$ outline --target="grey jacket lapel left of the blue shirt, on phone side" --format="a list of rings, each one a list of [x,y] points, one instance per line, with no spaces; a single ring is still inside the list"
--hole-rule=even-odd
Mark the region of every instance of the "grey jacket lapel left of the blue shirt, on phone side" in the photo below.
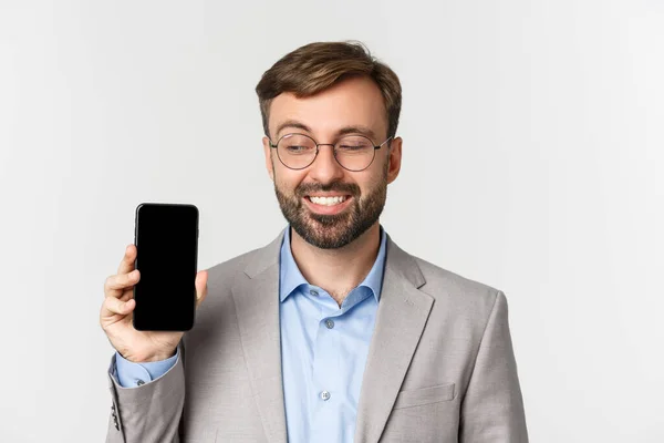
[[[256,253],[232,287],[242,351],[269,442],[286,443],[279,329],[279,250],[283,233]]]

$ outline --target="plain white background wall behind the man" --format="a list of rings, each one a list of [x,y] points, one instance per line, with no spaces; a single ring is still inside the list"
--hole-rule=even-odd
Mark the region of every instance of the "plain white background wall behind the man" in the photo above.
[[[227,3],[227,4],[222,4]],[[403,84],[396,243],[506,292],[533,442],[663,442],[664,2],[0,0],[0,441],[100,442],[142,202],[201,268],[284,226],[260,75],[357,39]]]

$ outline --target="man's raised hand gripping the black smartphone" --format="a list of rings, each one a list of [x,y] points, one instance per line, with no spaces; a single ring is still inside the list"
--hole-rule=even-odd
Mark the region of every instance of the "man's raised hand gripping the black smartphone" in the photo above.
[[[136,246],[128,245],[117,274],[106,278],[100,323],[113,348],[125,359],[133,362],[165,360],[175,354],[184,332],[134,329],[134,285],[141,279],[134,267],[136,254]],[[196,274],[196,308],[207,296],[207,270]]]

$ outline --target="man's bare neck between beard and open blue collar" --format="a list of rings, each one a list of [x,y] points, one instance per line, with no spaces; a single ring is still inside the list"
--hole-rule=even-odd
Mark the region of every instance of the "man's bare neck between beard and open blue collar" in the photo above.
[[[339,249],[317,248],[291,229],[291,253],[300,272],[309,284],[326,290],[340,307],[349,292],[367,276],[380,247],[378,222]]]

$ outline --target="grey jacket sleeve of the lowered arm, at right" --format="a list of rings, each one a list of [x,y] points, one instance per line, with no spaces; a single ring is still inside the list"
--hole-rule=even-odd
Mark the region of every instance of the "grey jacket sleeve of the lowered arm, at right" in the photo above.
[[[528,442],[507,299],[502,291],[496,296],[461,402],[459,442]]]

